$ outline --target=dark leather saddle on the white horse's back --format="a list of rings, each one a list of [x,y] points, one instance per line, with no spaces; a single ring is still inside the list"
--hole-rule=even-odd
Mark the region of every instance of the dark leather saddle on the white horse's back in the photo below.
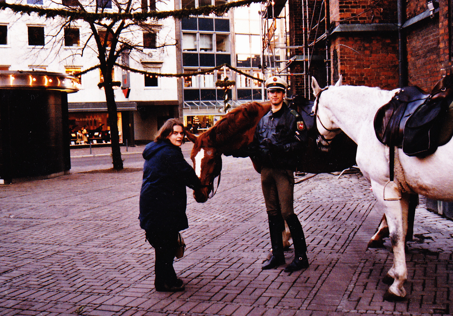
[[[402,88],[375,115],[376,137],[408,156],[424,157],[453,135],[453,75],[445,76],[431,94],[417,86]]]

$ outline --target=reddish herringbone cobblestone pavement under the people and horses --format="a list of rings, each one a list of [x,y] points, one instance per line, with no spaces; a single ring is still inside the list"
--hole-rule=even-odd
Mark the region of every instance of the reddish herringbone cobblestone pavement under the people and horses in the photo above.
[[[189,146],[188,144],[184,146]],[[140,230],[140,168],[0,187],[0,315],[442,315],[453,312],[453,222],[420,208],[408,243],[407,299],[384,301],[386,248],[366,249],[381,209],[359,174],[296,185],[310,267],[262,271],[270,250],[259,175],[224,157],[214,198],[188,191],[188,244],[174,266],[185,292],[154,290]],[[292,260],[293,248],[286,253]]]

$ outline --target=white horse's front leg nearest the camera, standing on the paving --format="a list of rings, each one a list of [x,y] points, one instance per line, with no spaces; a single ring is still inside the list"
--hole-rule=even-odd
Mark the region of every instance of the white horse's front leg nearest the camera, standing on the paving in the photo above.
[[[386,219],[389,227],[390,241],[393,248],[393,265],[387,272],[388,277],[394,279],[389,287],[388,293],[392,297],[405,297],[406,290],[404,282],[407,280],[407,267],[405,255],[405,236],[407,231],[407,211],[409,208],[409,194],[401,194],[401,199],[396,201],[385,201],[383,186],[372,184],[376,197],[386,207]],[[396,196],[395,192],[395,196]]]

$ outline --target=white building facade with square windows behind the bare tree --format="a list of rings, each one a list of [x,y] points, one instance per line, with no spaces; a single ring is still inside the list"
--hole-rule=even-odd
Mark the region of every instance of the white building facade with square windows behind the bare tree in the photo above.
[[[106,12],[118,12],[110,0],[96,1],[98,5],[105,6]],[[136,11],[144,10],[144,6],[145,10],[174,10],[172,0],[147,1],[151,3],[136,1]],[[75,5],[72,0],[63,0],[62,4],[50,0],[14,1],[16,4],[19,2],[57,9]],[[93,5],[93,1],[81,3]],[[102,34],[101,26],[98,32]],[[117,63],[153,73],[177,72],[174,19],[132,25],[122,32],[121,40],[133,43],[135,49],[122,54]],[[0,56],[0,71],[78,73],[99,64],[96,43],[86,22],[77,20],[63,24],[63,20],[58,18],[18,15],[8,9],[0,10]],[[180,117],[176,78],[147,76],[120,67],[115,67],[113,76],[115,81],[121,83],[115,88],[120,142],[127,140],[132,145],[136,141],[153,140],[166,119]],[[68,95],[68,132],[74,145],[77,137],[73,135],[84,127],[90,132],[92,143],[109,142],[106,97],[103,88],[98,87],[102,81],[101,72],[96,68],[82,74],[79,92]]]

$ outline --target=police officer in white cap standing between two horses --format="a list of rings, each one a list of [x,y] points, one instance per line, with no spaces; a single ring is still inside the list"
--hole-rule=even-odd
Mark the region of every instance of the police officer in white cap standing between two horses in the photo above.
[[[272,108],[258,123],[252,143],[261,162],[261,187],[272,244],[272,256],[261,268],[273,269],[285,263],[282,232],[286,220],[293,238],[294,260],[284,271],[293,272],[309,265],[304,231],[293,206],[297,155],[307,136],[299,114],[283,102],[288,84],[273,76],[266,80],[265,88]]]

